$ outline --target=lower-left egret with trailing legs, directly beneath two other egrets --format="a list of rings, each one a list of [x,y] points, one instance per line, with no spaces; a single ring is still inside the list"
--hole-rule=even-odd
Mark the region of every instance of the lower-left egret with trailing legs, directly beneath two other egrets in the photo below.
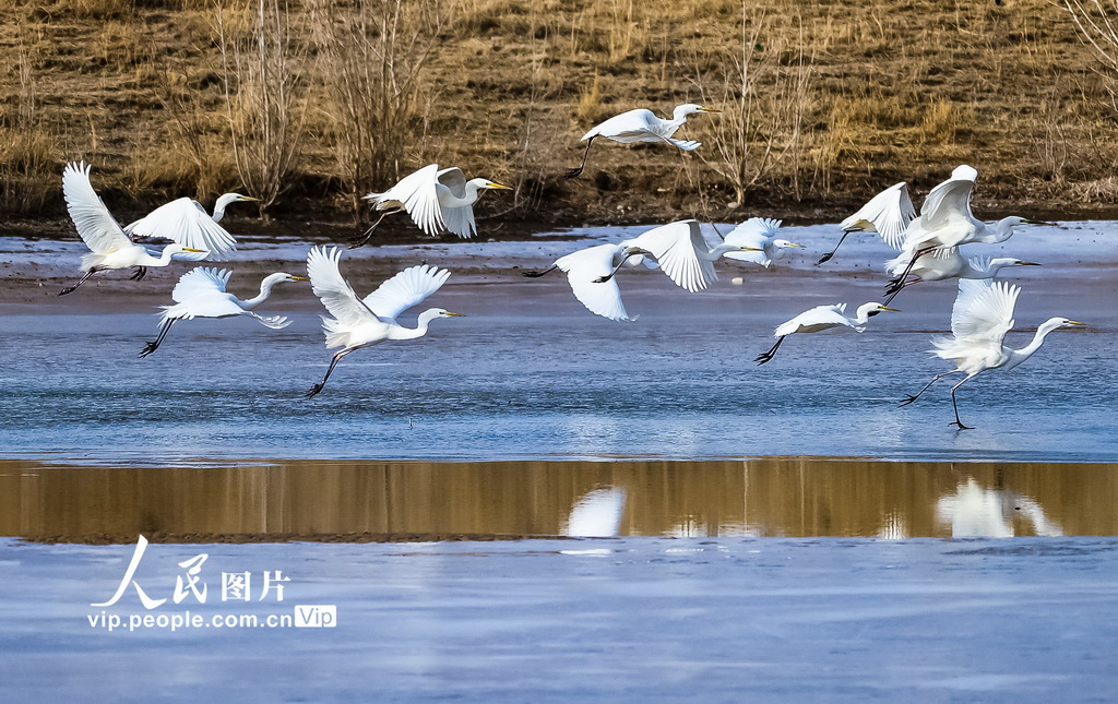
[[[305,282],[303,276],[292,276],[277,272],[264,277],[260,282],[260,293],[256,296],[241,301],[237,296],[227,293],[226,286],[229,284],[229,269],[211,269],[198,267],[190,269],[179,278],[179,283],[171,291],[171,301],[176,305],[163,305],[163,313],[159,318],[159,336],[149,342],[140,352],[144,358],[159,349],[163,343],[163,337],[170,332],[171,325],[176,321],[193,320],[196,317],[231,317],[234,315],[248,315],[265,327],[272,330],[283,330],[291,324],[283,315],[257,315],[253,308],[267,301],[272,295],[272,288],[276,284],[285,282]]]

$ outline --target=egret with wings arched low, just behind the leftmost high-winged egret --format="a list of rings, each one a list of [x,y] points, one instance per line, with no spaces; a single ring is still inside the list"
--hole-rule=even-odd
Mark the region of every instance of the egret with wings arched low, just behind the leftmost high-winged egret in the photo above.
[[[180,198],[155,208],[146,217],[125,226],[124,234],[133,239],[143,237],[169,239],[187,247],[207,250],[209,253],[207,259],[224,261],[236,251],[237,240],[218,222],[225,217],[225,209],[229,203],[248,201],[259,201],[259,198],[225,193],[217,199],[211,216],[197,200]]]

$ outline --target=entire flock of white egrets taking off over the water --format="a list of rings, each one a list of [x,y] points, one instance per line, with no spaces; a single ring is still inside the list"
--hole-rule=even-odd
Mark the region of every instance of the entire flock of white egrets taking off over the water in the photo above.
[[[656,117],[647,110],[634,110],[610,117],[582,136],[587,142],[581,164],[565,177],[578,177],[586,165],[590,146],[597,137],[622,143],[661,142],[680,150],[691,151],[699,142],[674,139],[688,115],[718,112],[701,105],[680,105],[671,120]],[[756,358],[764,364],[773,359],[788,335],[814,333],[832,327],[846,326],[858,332],[865,329],[869,318],[882,311],[894,311],[889,303],[903,288],[920,282],[957,278],[958,295],[951,310],[951,334],[932,341],[931,351],[950,361],[955,369],[936,375],[918,393],[908,396],[901,405],[916,401],[937,380],[950,374],[966,374],[951,387],[955,409],[953,425],[968,429],[959,419],[955,391],[967,380],[988,369],[1012,369],[1022,363],[1041,346],[1053,330],[1067,325],[1082,325],[1065,317],[1052,317],[1042,323],[1032,343],[1021,350],[1004,344],[1005,334],[1013,327],[1013,310],[1020,287],[993,279],[1007,266],[1029,266],[1030,261],[1014,258],[965,258],[959,246],[970,242],[1001,242],[1008,239],[1014,228],[1036,221],[1020,217],[1004,218],[993,226],[977,220],[970,210],[977,172],[967,165],[955,169],[950,178],[934,188],[925,199],[919,215],[906,183],[898,183],[871,199],[861,210],[842,222],[842,238],[835,249],[824,255],[818,264],[831,259],[851,232],[877,232],[899,255],[887,263],[893,278],[885,289],[883,303],[871,302],[858,308],[853,317],[846,316],[845,304],[821,305],[777,326],[773,348]],[[354,240],[352,247],[369,241],[381,220],[395,212],[407,212],[424,232],[437,236],[453,232],[467,238],[476,234],[473,204],[485,189],[509,187],[486,179],[466,180],[459,169],[439,169],[430,164],[405,177],[383,193],[370,193],[366,199],[380,212],[373,226]],[[59,292],[75,291],[91,276],[110,269],[134,269],[133,279],[144,276],[146,267],[168,266],[172,259],[222,260],[236,249],[236,240],[220,225],[226,207],[236,201],[256,200],[237,193],[226,193],[218,199],[209,215],[193,200],[180,198],[152,211],[148,217],[121,227],[97,197],[89,181],[89,167],[85,163],[67,164],[63,172],[63,192],[78,235],[89,247],[91,254],[82,258],[82,278]],[[705,229],[697,220],[682,220],[653,228],[635,238],[617,244],[597,245],[579,249],[557,259],[541,272],[528,276],[543,276],[552,270],[567,275],[571,291],[590,312],[614,321],[631,321],[622,301],[616,274],[623,266],[645,265],[660,268],[678,286],[688,292],[708,288],[718,278],[714,263],[731,258],[770,266],[780,258],[783,250],[799,247],[778,238],[780,222],[752,218],[733,228],[724,237],[713,225]],[[711,234],[718,241],[712,246],[707,239]],[[158,255],[138,244],[140,240],[165,239],[167,247]],[[272,289],[284,282],[310,280],[314,294],[322,301],[330,317],[323,316],[328,349],[339,349],[330,361],[322,381],[314,384],[307,396],[314,396],[330,378],[345,355],[364,346],[388,340],[411,340],[427,333],[430,321],[438,317],[461,316],[444,308],[428,308],[419,314],[416,327],[405,327],[397,318],[408,308],[418,305],[438,291],[451,273],[427,265],[413,266],[382,283],[375,292],[361,298],[342,277],[338,247],[313,247],[307,255],[307,276],[286,273],[272,274],[260,283],[259,294],[246,301],[227,293],[230,272],[198,267],[186,273],[171,292],[173,305],[162,306],[159,334],[140,352],[153,353],[163,343],[171,326],[180,320],[193,317],[229,317],[247,315],[263,325],[282,329],[290,324],[284,316],[258,315],[253,308],[266,301]]]

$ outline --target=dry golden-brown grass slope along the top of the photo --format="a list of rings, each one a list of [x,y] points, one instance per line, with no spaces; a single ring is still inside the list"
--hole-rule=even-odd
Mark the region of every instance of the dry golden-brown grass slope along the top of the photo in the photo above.
[[[245,44],[262,1],[280,13],[264,54]],[[1092,184],[1118,161],[1097,70],[1115,67],[1045,0],[440,0],[438,21],[419,0],[290,1],[224,0],[224,65],[212,0],[0,7],[0,207],[60,210],[74,158],[138,198],[244,188],[281,210],[352,208],[428,161],[517,184],[525,217],[577,221],[837,209],[964,160],[985,202],[1111,202]],[[685,129],[704,142],[691,159],[610,145],[558,180],[591,124],[707,101],[726,112]]]

